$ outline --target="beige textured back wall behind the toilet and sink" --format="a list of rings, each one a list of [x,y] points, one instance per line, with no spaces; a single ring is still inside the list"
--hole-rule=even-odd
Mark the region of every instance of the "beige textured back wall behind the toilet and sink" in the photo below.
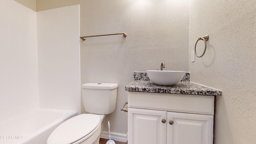
[[[121,35],[80,40],[81,82],[118,83],[116,110],[104,131],[127,133],[125,86],[134,71],[188,71],[188,0],[80,0],[80,35]],[[83,109],[83,106],[82,106]],[[84,112],[84,110],[82,110]]]

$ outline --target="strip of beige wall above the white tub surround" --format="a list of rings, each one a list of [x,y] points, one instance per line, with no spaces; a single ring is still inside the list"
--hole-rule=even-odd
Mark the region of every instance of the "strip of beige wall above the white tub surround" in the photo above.
[[[15,0],[20,4],[38,12],[42,10],[50,10],[64,6],[73,6],[79,4],[79,0]]]

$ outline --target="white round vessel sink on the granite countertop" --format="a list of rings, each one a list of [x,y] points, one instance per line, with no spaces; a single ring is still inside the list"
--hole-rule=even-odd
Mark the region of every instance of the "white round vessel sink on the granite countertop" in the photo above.
[[[172,86],[182,80],[185,71],[146,70],[148,78],[161,86]]]

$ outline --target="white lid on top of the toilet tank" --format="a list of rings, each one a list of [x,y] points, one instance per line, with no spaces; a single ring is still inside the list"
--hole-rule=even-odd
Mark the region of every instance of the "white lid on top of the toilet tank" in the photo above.
[[[118,84],[114,84],[114,83],[94,82],[94,83],[82,84],[82,88],[87,88],[87,89],[112,90],[117,87],[118,87]]]

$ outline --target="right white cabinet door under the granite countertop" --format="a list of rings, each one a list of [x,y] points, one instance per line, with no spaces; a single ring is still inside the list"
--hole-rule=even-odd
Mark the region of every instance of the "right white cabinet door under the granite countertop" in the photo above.
[[[168,112],[167,120],[167,144],[213,143],[213,116]]]

